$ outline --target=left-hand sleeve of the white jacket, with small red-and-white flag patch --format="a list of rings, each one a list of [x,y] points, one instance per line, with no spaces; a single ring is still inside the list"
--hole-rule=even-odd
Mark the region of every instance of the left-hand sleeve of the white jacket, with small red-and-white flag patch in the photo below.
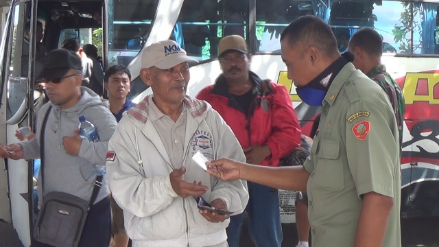
[[[108,143],[107,179],[117,204],[137,217],[158,213],[178,197],[168,176],[146,178],[139,165],[135,132],[141,131],[123,117]],[[157,161],[161,162],[161,161]]]

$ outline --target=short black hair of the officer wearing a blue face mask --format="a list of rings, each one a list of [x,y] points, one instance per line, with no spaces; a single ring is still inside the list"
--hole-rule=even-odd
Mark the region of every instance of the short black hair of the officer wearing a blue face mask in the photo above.
[[[338,54],[337,40],[331,27],[317,16],[300,16],[294,20],[283,30],[281,41],[285,38],[291,47],[312,45],[322,54]]]

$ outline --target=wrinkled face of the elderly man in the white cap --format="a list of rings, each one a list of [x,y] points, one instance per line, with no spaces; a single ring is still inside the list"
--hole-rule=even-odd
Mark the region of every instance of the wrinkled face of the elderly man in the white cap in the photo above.
[[[151,67],[141,69],[141,78],[154,93],[154,100],[165,104],[179,104],[185,99],[191,78],[189,65],[182,62],[169,69]]]

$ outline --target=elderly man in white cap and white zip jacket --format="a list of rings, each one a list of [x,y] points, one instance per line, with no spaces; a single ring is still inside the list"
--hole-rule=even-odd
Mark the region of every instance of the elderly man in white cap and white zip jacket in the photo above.
[[[108,145],[110,189],[134,247],[227,246],[230,212],[248,202],[245,181],[217,180],[192,159],[246,161],[222,117],[186,95],[191,61],[173,40],[145,48],[140,75],[154,94],[126,112]]]

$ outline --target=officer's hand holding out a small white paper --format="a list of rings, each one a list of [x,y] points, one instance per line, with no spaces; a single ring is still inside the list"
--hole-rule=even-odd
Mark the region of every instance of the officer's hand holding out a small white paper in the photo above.
[[[207,173],[224,181],[241,178],[240,163],[228,158],[207,162]]]

